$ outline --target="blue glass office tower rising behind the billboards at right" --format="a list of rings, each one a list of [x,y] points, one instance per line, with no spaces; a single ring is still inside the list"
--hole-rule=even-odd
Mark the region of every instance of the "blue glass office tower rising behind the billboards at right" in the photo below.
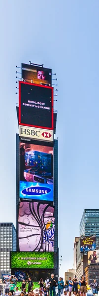
[[[80,235],[96,235],[99,248],[99,209],[85,209],[80,222]]]

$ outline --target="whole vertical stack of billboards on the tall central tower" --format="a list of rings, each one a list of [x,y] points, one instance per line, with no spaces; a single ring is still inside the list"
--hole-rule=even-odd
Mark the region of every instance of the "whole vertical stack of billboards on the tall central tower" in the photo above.
[[[54,269],[51,69],[22,64],[19,81],[18,252],[11,269]]]

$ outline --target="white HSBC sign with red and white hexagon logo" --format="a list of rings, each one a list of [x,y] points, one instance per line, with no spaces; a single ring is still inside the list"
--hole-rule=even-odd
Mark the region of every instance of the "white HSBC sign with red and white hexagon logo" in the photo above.
[[[19,125],[19,136],[53,142],[53,131]]]

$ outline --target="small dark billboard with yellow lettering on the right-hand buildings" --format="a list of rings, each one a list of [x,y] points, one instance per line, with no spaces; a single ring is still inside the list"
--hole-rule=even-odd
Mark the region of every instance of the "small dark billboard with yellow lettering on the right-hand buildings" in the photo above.
[[[80,239],[80,252],[96,250],[96,237],[95,236],[84,236]]]

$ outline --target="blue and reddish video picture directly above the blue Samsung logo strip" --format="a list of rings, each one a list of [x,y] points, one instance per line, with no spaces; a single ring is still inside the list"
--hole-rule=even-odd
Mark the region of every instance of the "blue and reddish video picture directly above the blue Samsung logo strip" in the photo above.
[[[20,143],[20,181],[53,184],[53,147]]]

